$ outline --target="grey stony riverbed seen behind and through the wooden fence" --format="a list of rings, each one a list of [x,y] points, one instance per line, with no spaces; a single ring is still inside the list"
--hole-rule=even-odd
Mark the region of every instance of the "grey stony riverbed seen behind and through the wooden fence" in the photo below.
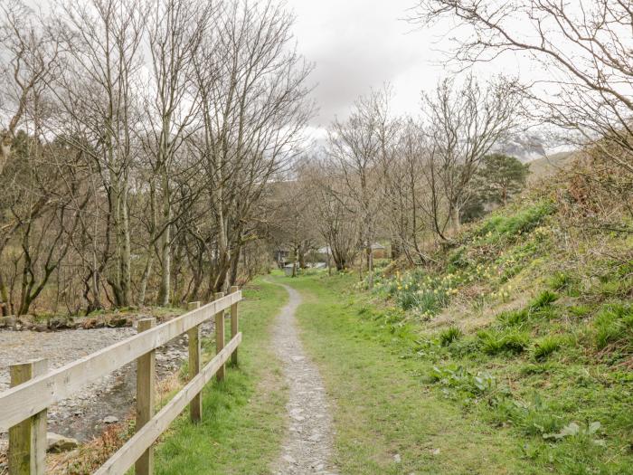
[[[203,325],[203,334],[213,332],[213,323]],[[136,328],[67,329],[52,332],[0,331],[0,392],[9,387],[9,366],[31,359],[46,358],[56,368],[124,338],[136,335]],[[187,358],[186,335],[176,337],[156,352],[158,379],[174,373]],[[136,390],[134,364],[123,366],[79,393],[49,408],[48,430],[80,442],[99,435],[109,423],[124,419],[133,407]],[[0,452],[6,434],[0,433]]]

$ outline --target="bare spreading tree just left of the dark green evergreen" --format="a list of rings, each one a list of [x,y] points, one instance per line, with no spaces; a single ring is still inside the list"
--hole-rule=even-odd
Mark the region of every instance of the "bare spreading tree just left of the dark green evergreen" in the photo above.
[[[520,101],[514,87],[513,81],[500,78],[481,88],[468,76],[459,87],[446,79],[432,94],[423,94],[428,213],[444,240],[448,228],[459,228],[459,210],[468,201],[468,185],[482,158],[515,127]]]

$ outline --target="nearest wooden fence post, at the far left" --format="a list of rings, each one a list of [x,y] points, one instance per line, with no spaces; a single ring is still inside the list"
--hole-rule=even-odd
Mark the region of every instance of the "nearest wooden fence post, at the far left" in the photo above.
[[[11,366],[11,387],[43,375],[45,359]],[[43,475],[46,467],[46,409],[9,428],[9,475]]]

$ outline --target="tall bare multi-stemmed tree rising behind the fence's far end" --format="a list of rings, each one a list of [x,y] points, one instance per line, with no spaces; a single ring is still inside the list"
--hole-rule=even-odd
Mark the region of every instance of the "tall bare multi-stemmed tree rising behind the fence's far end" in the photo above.
[[[213,262],[210,289],[232,279],[249,223],[270,180],[298,154],[311,114],[311,66],[291,45],[293,17],[272,2],[235,2],[222,11],[216,38],[196,66],[202,101],[199,142],[212,223],[202,241]],[[256,218],[255,218],[256,219]]]

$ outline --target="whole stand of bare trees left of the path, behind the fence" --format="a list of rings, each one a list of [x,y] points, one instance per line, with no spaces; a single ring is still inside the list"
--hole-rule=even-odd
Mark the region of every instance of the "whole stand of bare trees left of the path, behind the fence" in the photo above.
[[[292,21],[247,0],[0,5],[4,313],[166,305],[252,276],[312,110]]]

